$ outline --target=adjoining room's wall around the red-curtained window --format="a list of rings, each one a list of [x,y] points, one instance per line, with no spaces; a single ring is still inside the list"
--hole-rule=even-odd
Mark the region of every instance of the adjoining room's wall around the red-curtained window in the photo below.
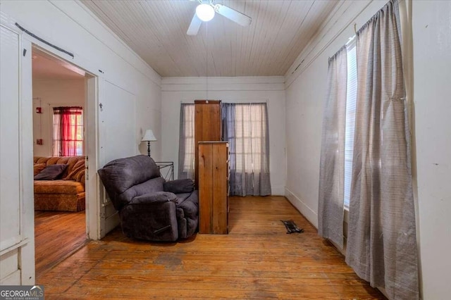
[[[85,78],[33,80],[33,155],[52,155],[53,106],[85,106]],[[42,113],[36,113],[37,107]],[[42,139],[38,145],[36,139]]]

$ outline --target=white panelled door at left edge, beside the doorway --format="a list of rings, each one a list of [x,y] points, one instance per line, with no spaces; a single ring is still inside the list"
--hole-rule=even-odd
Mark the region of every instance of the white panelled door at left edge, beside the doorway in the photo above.
[[[31,44],[0,25],[0,285],[35,282]]]

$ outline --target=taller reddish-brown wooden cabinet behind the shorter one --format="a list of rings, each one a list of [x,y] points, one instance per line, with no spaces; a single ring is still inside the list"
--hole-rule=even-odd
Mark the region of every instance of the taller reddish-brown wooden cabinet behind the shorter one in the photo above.
[[[194,101],[194,183],[199,188],[199,142],[221,141],[221,101]]]

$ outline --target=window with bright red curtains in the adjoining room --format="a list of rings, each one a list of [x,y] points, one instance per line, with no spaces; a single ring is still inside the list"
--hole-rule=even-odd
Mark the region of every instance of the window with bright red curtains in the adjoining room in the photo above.
[[[83,155],[83,108],[54,107],[53,156]]]

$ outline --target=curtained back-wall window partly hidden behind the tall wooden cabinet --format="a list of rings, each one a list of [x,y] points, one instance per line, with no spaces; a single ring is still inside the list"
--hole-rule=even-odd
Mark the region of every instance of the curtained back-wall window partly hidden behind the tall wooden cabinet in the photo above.
[[[229,142],[230,195],[271,194],[266,103],[222,104]],[[194,177],[194,104],[180,108],[179,178]]]

